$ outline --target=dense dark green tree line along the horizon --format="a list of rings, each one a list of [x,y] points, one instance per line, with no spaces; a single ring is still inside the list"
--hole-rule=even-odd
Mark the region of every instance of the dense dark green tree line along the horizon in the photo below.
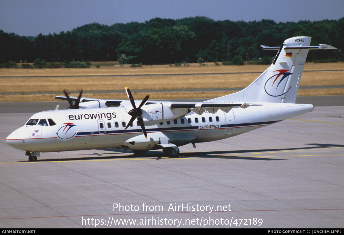
[[[339,20],[279,22],[214,21],[204,16],[179,20],[154,18],[143,23],[86,24],[72,31],[19,36],[0,30],[0,63],[116,61],[170,64],[175,62],[253,60],[274,56],[260,45],[279,46],[293,36],[311,36],[312,45],[329,44],[338,50],[310,52],[309,61],[343,60],[344,18]]]

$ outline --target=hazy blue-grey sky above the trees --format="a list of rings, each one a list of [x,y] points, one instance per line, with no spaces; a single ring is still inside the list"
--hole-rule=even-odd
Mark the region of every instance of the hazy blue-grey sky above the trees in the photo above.
[[[25,36],[155,17],[276,22],[344,17],[344,0],[0,0],[0,30]]]

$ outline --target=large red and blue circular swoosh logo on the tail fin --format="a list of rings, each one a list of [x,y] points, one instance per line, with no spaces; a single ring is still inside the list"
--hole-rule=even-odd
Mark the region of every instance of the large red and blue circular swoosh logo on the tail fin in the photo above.
[[[278,74],[275,74],[271,76],[266,82],[265,82],[265,92],[269,96],[277,97],[277,96],[282,96],[286,94],[291,86],[288,88],[286,92],[284,91],[284,87],[286,86],[286,83],[288,79],[286,79],[289,75],[292,75],[291,72],[289,72],[288,69],[279,69],[275,70],[274,72],[278,72]]]

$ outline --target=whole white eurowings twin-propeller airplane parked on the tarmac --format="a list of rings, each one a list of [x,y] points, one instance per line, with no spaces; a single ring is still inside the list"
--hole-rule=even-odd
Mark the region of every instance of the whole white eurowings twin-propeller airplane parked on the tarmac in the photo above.
[[[25,125],[11,133],[6,142],[25,150],[30,161],[41,152],[118,148],[143,156],[147,150],[162,149],[178,156],[178,146],[236,136],[313,110],[311,104],[295,104],[311,37],[284,41],[277,56],[247,88],[204,102],[134,101],[57,96],[68,100],[67,110],[34,114]],[[73,104],[72,101],[75,101]],[[137,120],[135,122],[135,120]]]

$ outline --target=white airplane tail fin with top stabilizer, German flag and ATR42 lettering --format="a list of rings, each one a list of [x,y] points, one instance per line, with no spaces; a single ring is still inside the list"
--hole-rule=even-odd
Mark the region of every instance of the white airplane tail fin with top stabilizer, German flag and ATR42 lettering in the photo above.
[[[271,102],[295,103],[303,66],[310,49],[336,49],[319,44],[310,46],[311,37],[292,37],[281,47],[261,46],[265,50],[278,50],[275,60],[254,82],[244,90],[207,102]]]

